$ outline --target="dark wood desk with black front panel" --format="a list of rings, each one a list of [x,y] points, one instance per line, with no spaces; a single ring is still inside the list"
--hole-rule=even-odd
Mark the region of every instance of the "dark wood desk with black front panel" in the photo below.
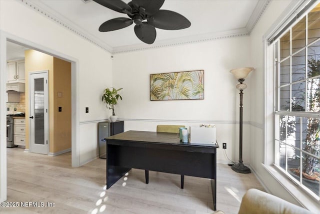
[[[131,168],[211,179],[216,210],[216,144],[191,145],[177,134],[126,131],[106,139],[106,188]]]

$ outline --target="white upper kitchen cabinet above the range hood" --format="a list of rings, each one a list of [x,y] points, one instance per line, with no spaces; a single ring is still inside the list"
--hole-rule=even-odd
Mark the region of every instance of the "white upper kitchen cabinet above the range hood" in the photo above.
[[[24,60],[8,61],[6,65],[8,83],[24,83]]]

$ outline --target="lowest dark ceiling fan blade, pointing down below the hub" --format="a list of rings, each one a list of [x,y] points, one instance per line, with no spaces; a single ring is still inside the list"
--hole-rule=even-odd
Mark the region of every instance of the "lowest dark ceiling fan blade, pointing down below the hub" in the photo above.
[[[141,25],[135,25],[134,33],[139,40],[146,44],[152,44],[156,37],[155,28],[148,25],[146,22],[143,22]]]

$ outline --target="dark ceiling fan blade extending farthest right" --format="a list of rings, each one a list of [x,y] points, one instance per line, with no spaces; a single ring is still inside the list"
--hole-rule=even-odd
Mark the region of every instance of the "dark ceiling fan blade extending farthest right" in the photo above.
[[[180,30],[191,26],[189,20],[173,11],[159,10],[147,19],[148,24],[163,30]]]

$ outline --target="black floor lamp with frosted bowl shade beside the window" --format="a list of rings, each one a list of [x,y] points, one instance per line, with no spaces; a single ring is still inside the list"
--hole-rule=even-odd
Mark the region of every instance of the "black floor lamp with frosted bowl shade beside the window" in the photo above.
[[[233,171],[238,173],[251,173],[250,169],[243,165],[242,161],[242,98],[243,90],[246,88],[246,85],[243,83],[244,78],[253,70],[253,68],[237,68],[230,71],[233,76],[238,80],[239,84],[236,85],[236,88],[240,90],[240,120],[239,120],[239,163],[231,166]]]

